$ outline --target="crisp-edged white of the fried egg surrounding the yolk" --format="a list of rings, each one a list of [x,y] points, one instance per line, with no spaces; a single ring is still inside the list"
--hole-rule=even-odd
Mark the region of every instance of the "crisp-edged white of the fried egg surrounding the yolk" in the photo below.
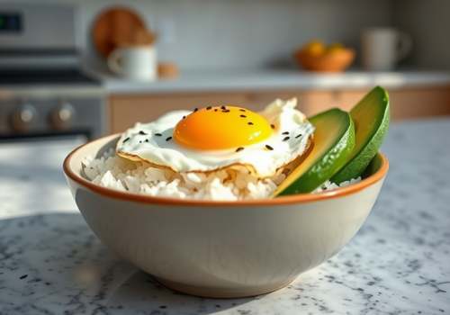
[[[166,166],[175,172],[210,172],[227,166],[247,166],[258,177],[272,176],[277,169],[302,156],[310,146],[314,127],[295,109],[296,104],[296,99],[269,104],[260,114],[275,125],[274,133],[264,141],[242,146],[244,149],[238,152],[236,148],[195,150],[178,145],[170,137],[176,123],[191,113],[187,111],[168,112],[157,121],[136,123],[121,135],[116,152],[121,157]]]

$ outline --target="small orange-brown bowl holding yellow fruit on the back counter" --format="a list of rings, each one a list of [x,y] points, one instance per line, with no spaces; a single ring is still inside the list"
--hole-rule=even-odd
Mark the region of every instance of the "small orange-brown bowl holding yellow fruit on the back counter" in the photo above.
[[[297,62],[306,70],[320,72],[341,72],[355,59],[354,49],[331,51],[320,56],[312,56],[304,50],[295,52]]]

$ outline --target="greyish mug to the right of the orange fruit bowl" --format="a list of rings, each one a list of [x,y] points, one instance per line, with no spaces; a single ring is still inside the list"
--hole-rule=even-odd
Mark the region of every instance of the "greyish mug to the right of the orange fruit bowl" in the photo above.
[[[362,61],[366,70],[392,70],[411,49],[410,35],[392,28],[370,28],[361,36]]]

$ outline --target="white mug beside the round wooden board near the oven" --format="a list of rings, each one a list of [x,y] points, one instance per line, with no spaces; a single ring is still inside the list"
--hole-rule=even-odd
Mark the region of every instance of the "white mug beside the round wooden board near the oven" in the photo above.
[[[157,51],[153,45],[119,48],[108,57],[112,72],[140,81],[157,78]]]

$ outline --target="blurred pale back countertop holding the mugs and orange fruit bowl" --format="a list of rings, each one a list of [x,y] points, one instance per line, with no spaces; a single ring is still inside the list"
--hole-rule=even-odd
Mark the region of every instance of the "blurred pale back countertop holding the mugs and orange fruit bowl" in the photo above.
[[[362,89],[374,85],[386,88],[450,85],[450,72],[348,71],[342,74],[316,74],[300,70],[205,70],[182,71],[174,80],[136,82],[104,72],[91,74],[100,78],[104,89],[111,94],[182,93],[195,91],[257,91],[270,89],[329,90]]]

